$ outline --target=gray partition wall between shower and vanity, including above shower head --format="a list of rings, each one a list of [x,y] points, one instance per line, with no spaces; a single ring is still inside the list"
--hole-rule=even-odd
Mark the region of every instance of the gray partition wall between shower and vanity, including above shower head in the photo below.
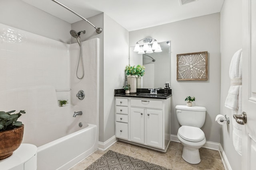
[[[82,41],[100,38],[99,141],[104,143],[115,135],[114,89],[124,86],[124,68],[129,57],[129,33],[104,13],[88,18],[88,21],[96,27],[102,27],[103,32],[97,34],[85,21],[73,23],[72,29],[86,30],[86,34],[81,35]],[[75,38],[72,38],[72,43],[76,43]]]

